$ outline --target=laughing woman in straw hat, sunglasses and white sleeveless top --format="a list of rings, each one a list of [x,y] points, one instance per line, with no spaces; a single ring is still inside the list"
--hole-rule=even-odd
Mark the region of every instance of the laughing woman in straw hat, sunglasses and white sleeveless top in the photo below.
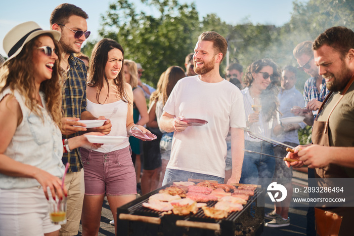
[[[61,138],[60,36],[30,21],[4,38],[9,59],[0,68],[0,235],[59,235],[46,198],[47,187],[53,198],[67,195],[62,153],[100,146],[84,136]]]

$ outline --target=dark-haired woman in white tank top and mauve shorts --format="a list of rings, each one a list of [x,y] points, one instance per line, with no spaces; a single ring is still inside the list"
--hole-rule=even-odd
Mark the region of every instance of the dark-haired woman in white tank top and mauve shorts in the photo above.
[[[112,130],[108,135],[121,139],[95,151],[80,149],[85,168],[82,235],[97,235],[105,195],[114,220],[118,207],[136,199],[137,182],[127,135],[136,128],[143,133],[150,131],[134,124],[133,92],[125,83],[123,64],[124,51],[120,44],[104,38],[95,45],[86,89],[87,110],[93,115],[109,117]]]

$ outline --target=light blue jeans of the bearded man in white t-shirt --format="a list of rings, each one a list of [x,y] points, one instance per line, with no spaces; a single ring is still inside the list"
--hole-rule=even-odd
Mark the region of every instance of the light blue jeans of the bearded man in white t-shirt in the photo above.
[[[166,169],[162,185],[165,185],[172,181],[188,181],[188,179],[215,180],[218,183],[224,183],[224,178],[217,177],[214,175],[206,175],[183,170]]]

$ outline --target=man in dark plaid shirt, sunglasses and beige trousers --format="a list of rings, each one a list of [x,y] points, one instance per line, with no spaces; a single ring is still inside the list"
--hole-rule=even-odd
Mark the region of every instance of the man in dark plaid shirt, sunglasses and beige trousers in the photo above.
[[[64,70],[63,85],[63,139],[80,135],[86,131],[86,125],[79,120],[104,120],[104,116],[95,117],[86,110],[86,67],[73,53],[81,51],[82,43],[90,35],[87,31],[87,14],[72,4],[61,4],[52,12],[51,28],[62,33],[59,44],[63,48],[61,67]],[[65,73],[66,72],[66,73]],[[83,127],[74,127],[83,126]],[[107,120],[103,126],[93,131],[108,134],[112,125]],[[63,163],[69,163],[65,185],[68,189],[67,223],[62,225],[60,235],[77,235],[81,219],[84,197],[84,179],[80,152],[77,148],[63,154]]]

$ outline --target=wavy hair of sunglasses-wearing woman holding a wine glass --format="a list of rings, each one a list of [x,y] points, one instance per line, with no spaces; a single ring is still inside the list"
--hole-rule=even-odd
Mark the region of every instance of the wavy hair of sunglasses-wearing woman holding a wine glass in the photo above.
[[[246,87],[251,87],[254,81],[252,73],[258,73],[264,66],[271,66],[273,68],[271,84],[269,84],[267,89],[263,90],[260,94],[260,99],[262,102],[261,112],[265,115],[265,120],[268,122],[272,117],[276,116],[279,107],[278,93],[281,76],[279,66],[269,58],[255,61],[248,66],[244,76],[244,82]]]

